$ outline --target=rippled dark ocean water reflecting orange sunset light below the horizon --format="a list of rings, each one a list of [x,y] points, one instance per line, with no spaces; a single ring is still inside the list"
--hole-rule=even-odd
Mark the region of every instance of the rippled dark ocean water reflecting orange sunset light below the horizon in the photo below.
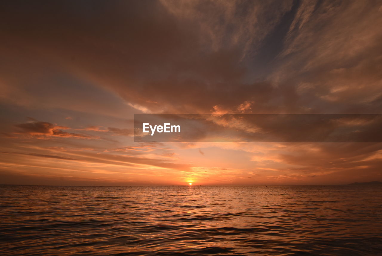
[[[1,255],[382,255],[382,186],[0,186]]]

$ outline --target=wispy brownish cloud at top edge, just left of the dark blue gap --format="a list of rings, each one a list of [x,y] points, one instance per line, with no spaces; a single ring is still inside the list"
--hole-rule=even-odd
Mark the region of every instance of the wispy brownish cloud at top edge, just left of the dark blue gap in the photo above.
[[[292,8],[292,1],[163,0],[161,3],[181,23],[193,24],[199,30],[204,46],[212,51],[240,47],[243,56],[253,54]],[[264,15],[270,12],[273,13],[272,19]]]

